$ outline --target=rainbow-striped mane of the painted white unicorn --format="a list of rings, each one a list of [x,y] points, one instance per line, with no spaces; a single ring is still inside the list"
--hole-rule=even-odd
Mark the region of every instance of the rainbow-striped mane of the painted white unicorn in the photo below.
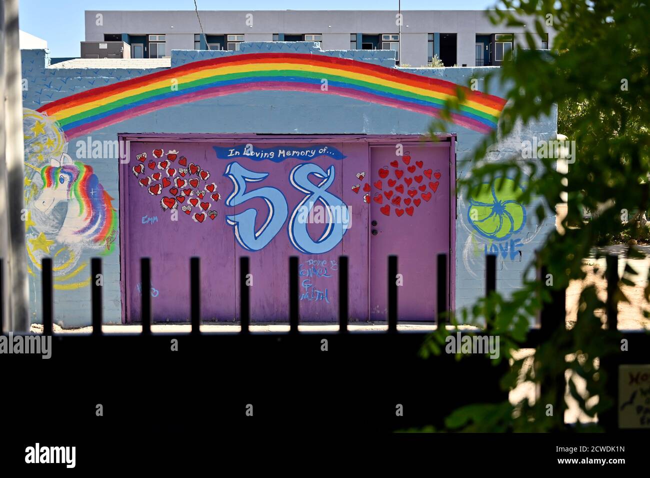
[[[73,165],[45,166],[41,170],[43,187],[59,187],[58,178],[69,179],[70,193],[79,202],[79,215],[85,214],[86,226],[75,234],[94,235],[92,241],[105,243],[107,252],[113,248],[116,239],[117,214],[112,207],[109,193],[104,191],[92,166],[76,161]]]

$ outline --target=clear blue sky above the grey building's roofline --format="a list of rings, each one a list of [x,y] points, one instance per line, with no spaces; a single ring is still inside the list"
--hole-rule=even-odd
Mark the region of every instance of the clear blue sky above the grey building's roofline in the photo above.
[[[482,10],[496,0],[402,0],[403,10]],[[391,10],[397,0],[196,0],[199,10]],[[305,3],[309,6],[305,6]],[[47,40],[53,57],[78,57],[84,10],[194,10],[193,0],[20,0],[20,29]]]

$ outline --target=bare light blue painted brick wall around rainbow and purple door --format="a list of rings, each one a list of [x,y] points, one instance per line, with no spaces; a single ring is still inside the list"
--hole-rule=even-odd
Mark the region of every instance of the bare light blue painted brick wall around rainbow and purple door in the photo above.
[[[320,51],[310,42],[281,43],[257,42],[242,44],[239,53],[229,51],[190,51],[172,52],[172,66],[187,62],[213,58],[220,55],[259,53],[269,51],[290,51],[292,53],[312,53],[350,58],[382,66],[392,67],[395,59],[392,51]],[[61,69],[48,68],[49,53],[45,50],[21,51],[23,78],[27,79],[27,90],[23,92],[23,106],[38,109],[49,101],[64,98],[97,86],[109,85],[125,79],[146,75],[158,70],[136,69]],[[467,85],[471,77],[480,76],[487,68],[413,68],[405,71],[437,77]],[[496,87],[495,82],[491,84]],[[484,87],[479,81],[479,89]],[[489,91],[504,96],[502,87]],[[92,134],[92,140],[115,140],[118,133],[284,133],[284,134],[423,134],[428,131],[431,119],[419,113],[411,113],[365,103],[359,100],[338,96],[310,94],[306,92],[248,92],[223,96],[209,100],[196,101],[155,111],[153,113],[126,120],[120,124],[99,129]],[[538,139],[552,139],[557,129],[556,111],[526,127],[521,127],[510,137],[495,145],[489,159],[498,161],[508,155],[521,151],[521,142]],[[463,127],[453,126],[450,131],[458,134],[456,144],[457,175],[468,174],[467,159],[473,147],[480,141],[480,133]],[[73,140],[75,143],[77,140]],[[75,157],[75,144],[68,145],[68,153]],[[115,207],[119,205],[118,160],[87,159],[98,174],[99,180],[114,198]],[[525,265],[534,256],[544,235],[554,227],[554,217],[549,214],[541,224],[537,223],[534,208],[529,208],[528,222],[518,235],[525,243],[521,246],[521,258],[510,259],[499,256],[497,287],[504,291],[515,289],[521,283]],[[118,211],[119,213],[119,211]],[[474,299],[484,295],[483,263],[479,256],[468,254],[471,245],[471,226],[467,224],[467,203],[458,199],[456,222],[456,306],[469,305]],[[474,235],[475,236],[475,235]],[[478,245],[480,250],[481,245]],[[474,246],[476,249],[476,246]],[[94,255],[94,254],[92,254]],[[86,261],[90,254],[85,254]],[[120,256],[116,250],[104,259],[105,322],[120,323]],[[86,274],[85,276],[83,274]],[[79,276],[88,277],[89,272]],[[40,313],[40,280],[30,279],[30,300],[32,321],[38,322]],[[90,325],[90,289],[88,287],[71,291],[55,291],[55,321],[64,326]]]

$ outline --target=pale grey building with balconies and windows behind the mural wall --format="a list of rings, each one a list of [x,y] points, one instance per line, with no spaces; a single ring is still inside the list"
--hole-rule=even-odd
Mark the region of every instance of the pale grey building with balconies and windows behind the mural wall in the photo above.
[[[322,49],[389,49],[398,64],[427,66],[434,55],[445,66],[499,66],[524,27],[495,27],[484,10],[85,12],[82,58],[160,58],[174,49],[236,51],[242,42],[318,42]],[[202,31],[201,31],[202,27]],[[552,44],[553,30],[532,33],[536,47]],[[400,41],[401,40],[401,41]],[[401,58],[399,57],[401,54]],[[122,55],[121,57],[118,55]]]

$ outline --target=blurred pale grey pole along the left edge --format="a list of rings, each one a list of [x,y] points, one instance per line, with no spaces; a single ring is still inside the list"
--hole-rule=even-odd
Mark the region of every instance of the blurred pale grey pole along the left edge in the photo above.
[[[18,0],[0,3],[0,256],[5,261],[5,327],[28,332],[29,289],[23,217],[23,93]]]

